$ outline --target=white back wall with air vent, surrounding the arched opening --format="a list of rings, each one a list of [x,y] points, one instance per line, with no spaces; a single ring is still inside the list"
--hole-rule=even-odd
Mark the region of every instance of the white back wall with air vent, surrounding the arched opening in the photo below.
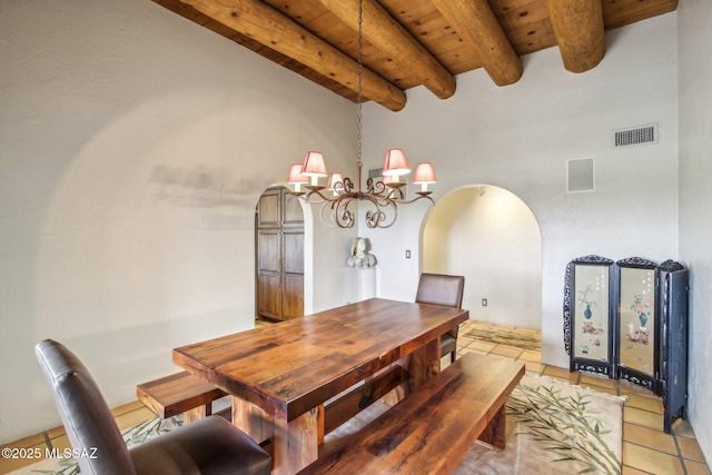
[[[678,72],[675,13],[606,33],[595,69],[567,72],[556,49],[530,55],[515,85],[495,86],[483,70],[457,77],[451,100],[408,91],[398,113],[364,112],[364,156],[379,166],[402,147],[411,164],[433,161],[436,199],[476,184],[502,187],[533,211],[542,232],[543,359],[567,367],[562,330],[564,270],[597,254],[662,261],[678,253]],[[613,130],[659,125],[654,145],[616,149]],[[595,192],[566,194],[566,160],[595,158]],[[405,208],[405,207],[404,207]],[[426,207],[400,214],[387,232],[370,231],[384,297],[411,297],[419,263],[414,235]],[[362,234],[365,231],[359,230]],[[415,255],[417,253],[414,251]],[[516,293],[516,289],[512,289]]]

